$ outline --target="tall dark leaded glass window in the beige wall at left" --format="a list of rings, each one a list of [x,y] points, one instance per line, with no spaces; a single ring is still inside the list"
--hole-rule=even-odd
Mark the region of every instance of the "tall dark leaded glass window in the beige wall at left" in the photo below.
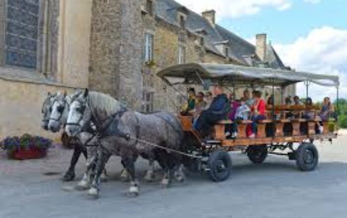
[[[36,69],[39,0],[7,0],[5,63]]]

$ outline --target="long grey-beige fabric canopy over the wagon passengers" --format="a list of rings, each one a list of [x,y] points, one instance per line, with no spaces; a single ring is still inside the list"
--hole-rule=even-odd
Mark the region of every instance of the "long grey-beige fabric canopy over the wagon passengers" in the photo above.
[[[339,86],[339,77],[306,72],[238,66],[233,64],[188,63],[158,72],[166,83],[197,84],[202,80],[230,85],[275,85],[286,87],[297,82],[310,81],[322,86]]]

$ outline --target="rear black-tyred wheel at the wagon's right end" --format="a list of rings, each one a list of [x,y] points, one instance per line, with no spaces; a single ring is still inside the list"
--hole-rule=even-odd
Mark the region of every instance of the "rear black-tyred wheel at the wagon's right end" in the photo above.
[[[296,165],[302,171],[312,171],[318,164],[318,151],[312,143],[302,143],[296,150]]]

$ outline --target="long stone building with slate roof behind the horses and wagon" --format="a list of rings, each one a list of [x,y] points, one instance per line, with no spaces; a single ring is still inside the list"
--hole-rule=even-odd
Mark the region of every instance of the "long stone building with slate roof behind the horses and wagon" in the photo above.
[[[253,46],[215,11],[174,0],[0,0],[0,138],[50,136],[48,92],[89,87],[144,112],[174,110],[180,98],[156,72],[185,62],[285,68],[265,34]]]

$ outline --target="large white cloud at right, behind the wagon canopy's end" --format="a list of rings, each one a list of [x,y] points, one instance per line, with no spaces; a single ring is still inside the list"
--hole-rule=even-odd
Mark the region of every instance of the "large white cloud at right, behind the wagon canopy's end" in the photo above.
[[[293,44],[274,47],[284,63],[298,71],[339,75],[341,96],[347,98],[347,30],[325,26]],[[297,93],[304,97],[305,87],[298,85]],[[312,85],[309,95],[316,101],[324,96],[335,98],[336,89]]]

